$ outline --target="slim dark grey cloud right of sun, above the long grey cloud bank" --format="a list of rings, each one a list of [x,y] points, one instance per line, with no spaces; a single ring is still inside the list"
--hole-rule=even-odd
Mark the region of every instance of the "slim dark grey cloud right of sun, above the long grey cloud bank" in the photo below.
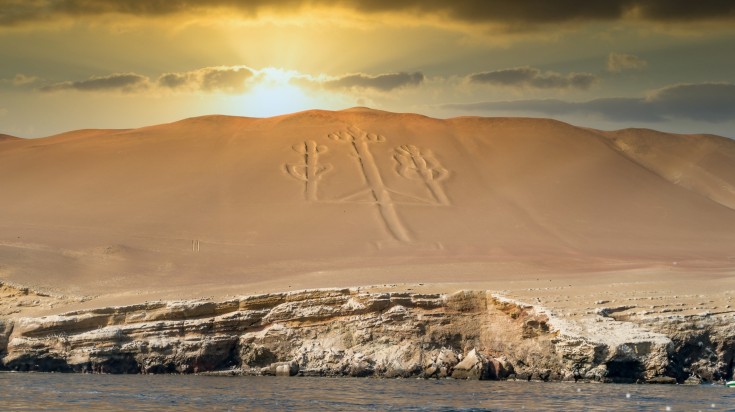
[[[496,86],[527,87],[534,89],[589,89],[597,77],[590,73],[569,73],[567,75],[545,72],[533,67],[517,67],[475,73],[468,76],[471,83]]]

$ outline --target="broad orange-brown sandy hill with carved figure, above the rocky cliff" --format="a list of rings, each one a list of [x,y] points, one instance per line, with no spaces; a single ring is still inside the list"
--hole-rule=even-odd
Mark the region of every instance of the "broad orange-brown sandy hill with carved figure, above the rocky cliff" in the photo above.
[[[0,144],[0,279],[113,301],[672,271],[722,290],[733,187],[731,140],[543,119],[356,108],[83,130]]]

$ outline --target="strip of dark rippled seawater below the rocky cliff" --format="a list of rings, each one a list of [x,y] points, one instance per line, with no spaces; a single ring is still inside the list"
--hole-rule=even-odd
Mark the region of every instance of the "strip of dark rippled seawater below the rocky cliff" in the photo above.
[[[735,411],[735,389],[719,385],[0,373],[0,410]]]

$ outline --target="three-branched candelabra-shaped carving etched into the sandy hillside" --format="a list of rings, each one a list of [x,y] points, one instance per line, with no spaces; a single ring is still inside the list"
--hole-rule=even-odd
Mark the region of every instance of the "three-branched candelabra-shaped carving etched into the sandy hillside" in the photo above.
[[[399,176],[409,180],[422,181],[431,193],[431,199],[423,199],[391,190],[383,182],[380,169],[370,152],[369,144],[383,143],[386,141],[385,137],[375,133],[365,132],[356,127],[349,127],[347,130],[341,132],[330,133],[328,137],[338,142],[349,143],[352,146],[359,163],[360,172],[368,186],[366,189],[361,189],[349,196],[343,197],[339,202],[351,202],[361,195],[369,194],[372,199],[370,203],[378,206],[381,219],[385,223],[388,232],[396,240],[411,242],[412,239],[410,232],[396,211],[397,204],[408,203],[395,201],[392,194],[414,200],[415,202],[411,204],[432,206],[448,206],[451,204],[440,184],[442,180],[449,176],[449,171],[439,164],[438,160],[436,160],[430,151],[421,150],[414,145],[403,145],[395,149],[393,156],[393,159],[398,163],[396,173]],[[286,171],[292,177],[305,182],[304,197],[307,201],[318,201],[317,181],[323,173],[332,169],[332,165],[319,165],[318,163],[319,154],[325,153],[327,147],[320,146],[313,140],[307,140],[303,144],[293,146],[293,150],[304,155],[304,163],[286,164]]]

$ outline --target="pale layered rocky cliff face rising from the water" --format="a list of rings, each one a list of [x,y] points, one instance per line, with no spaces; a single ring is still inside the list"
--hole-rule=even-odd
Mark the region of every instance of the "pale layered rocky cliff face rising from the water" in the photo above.
[[[733,314],[570,322],[486,291],[322,289],[0,323],[5,369],[459,379],[730,378]],[[622,315],[621,315],[622,313]]]

